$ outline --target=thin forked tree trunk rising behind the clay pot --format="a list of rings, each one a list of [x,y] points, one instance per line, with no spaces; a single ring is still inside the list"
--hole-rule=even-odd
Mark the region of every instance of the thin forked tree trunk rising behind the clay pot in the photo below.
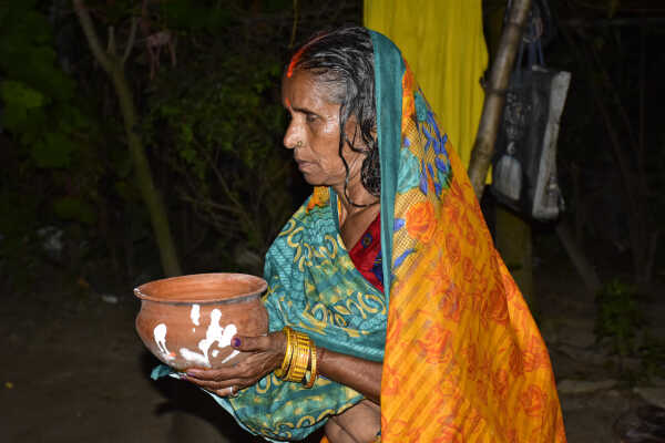
[[[139,137],[134,131],[137,124],[136,107],[134,106],[132,91],[124,74],[124,60],[129,55],[129,51],[133,44],[134,29],[132,30],[132,37],[130,38],[130,42],[127,42],[127,48],[123,58],[115,55],[114,42],[112,39],[110,39],[109,44],[112,51],[111,53],[108,53],[103,51],[102,47],[100,45],[92,19],[90,18],[83,0],[73,0],[73,4],[74,11],[79,17],[79,22],[81,23],[81,28],[83,29],[83,33],[85,34],[92,54],[101,64],[106,74],[109,74],[111,81],[113,82],[113,86],[115,87],[115,93],[120,103],[120,110],[127,136],[130,155],[132,157],[134,172],[136,174],[136,183],[139,189],[141,190],[143,203],[147,207],[147,212],[150,214],[151,224],[160,251],[162,268],[164,274],[168,277],[181,275],[182,271],[177,260],[175,244],[171,235],[166,209],[164,207],[162,196],[158,189],[155,187],[141,137]],[[112,33],[110,35],[113,37]]]

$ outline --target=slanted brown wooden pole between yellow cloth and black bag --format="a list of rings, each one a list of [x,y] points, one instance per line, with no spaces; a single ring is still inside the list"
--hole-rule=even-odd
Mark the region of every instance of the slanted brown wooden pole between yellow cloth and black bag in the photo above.
[[[490,168],[499,122],[505,102],[505,90],[530,8],[531,0],[513,0],[508,22],[503,27],[499,49],[492,62],[478,135],[469,162],[469,178],[471,178],[478,199],[482,196],[485,177]]]

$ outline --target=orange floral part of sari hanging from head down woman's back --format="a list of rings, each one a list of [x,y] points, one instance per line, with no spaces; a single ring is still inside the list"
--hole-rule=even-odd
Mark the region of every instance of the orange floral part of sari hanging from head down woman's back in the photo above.
[[[396,71],[399,50],[380,34],[372,40],[377,84],[401,86],[378,110],[400,110],[399,121],[379,126],[379,137],[385,125],[400,127],[398,137],[379,138],[381,156],[399,152],[383,257],[391,281],[381,441],[565,442],[548,350],[466,171],[407,63]],[[390,187],[382,182],[382,192]]]

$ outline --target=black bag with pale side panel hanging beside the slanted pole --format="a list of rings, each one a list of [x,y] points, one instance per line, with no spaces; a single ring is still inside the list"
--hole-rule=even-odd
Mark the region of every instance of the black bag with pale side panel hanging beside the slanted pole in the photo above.
[[[525,48],[529,61],[522,68]],[[535,219],[552,220],[563,210],[556,141],[571,74],[543,64],[540,40],[522,42],[505,94],[490,188],[500,203]]]

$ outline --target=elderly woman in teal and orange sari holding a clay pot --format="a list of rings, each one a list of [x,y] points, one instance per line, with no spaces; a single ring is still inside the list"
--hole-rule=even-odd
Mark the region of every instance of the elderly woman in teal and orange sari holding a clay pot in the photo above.
[[[399,50],[319,34],[282,100],[315,189],[266,256],[270,332],[186,379],[267,440],[564,442],[546,349]]]

